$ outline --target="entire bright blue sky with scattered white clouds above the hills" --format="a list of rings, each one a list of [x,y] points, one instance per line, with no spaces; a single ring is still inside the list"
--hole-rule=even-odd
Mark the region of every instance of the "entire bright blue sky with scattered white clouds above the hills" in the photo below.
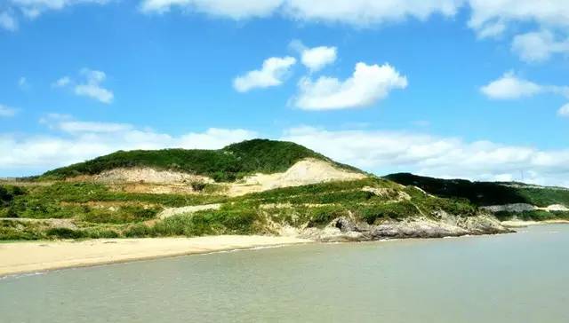
[[[0,0],[0,177],[290,140],[569,186],[566,0]]]

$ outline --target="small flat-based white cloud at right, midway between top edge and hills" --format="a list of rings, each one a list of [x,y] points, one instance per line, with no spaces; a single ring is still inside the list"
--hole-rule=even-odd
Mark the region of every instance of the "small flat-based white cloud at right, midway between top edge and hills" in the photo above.
[[[508,72],[498,80],[483,86],[480,91],[488,98],[513,99],[532,97],[543,92],[544,87],[518,78],[514,73]]]

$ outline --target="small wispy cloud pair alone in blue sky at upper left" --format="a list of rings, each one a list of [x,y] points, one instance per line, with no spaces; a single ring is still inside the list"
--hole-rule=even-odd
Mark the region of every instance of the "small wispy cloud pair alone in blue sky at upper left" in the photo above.
[[[105,72],[83,68],[79,74],[84,77],[81,82],[74,83],[70,77],[63,76],[52,83],[52,87],[65,88],[73,85],[73,91],[78,96],[93,98],[105,104],[113,102],[113,98],[115,98],[113,92],[101,85],[107,78]]]

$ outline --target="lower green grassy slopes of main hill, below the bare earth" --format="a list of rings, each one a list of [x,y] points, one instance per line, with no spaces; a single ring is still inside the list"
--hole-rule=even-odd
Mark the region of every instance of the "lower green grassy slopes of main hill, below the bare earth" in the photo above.
[[[468,201],[429,197],[413,187],[373,177],[234,198],[215,193],[124,193],[107,185],[68,182],[4,187],[0,192],[9,192],[0,206],[0,240],[276,233],[274,224],[322,227],[341,216],[377,224],[420,215],[436,218],[441,209],[462,217],[477,214]],[[221,208],[156,218],[164,208],[209,203],[221,203]]]

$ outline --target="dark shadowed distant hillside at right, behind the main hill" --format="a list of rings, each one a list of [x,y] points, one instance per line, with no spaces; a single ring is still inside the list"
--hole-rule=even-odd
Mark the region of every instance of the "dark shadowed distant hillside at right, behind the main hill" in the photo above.
[[[408,173],[385,178],[401,185],[415,185],[427,193],[447,198],[463,198],[478,206],[527,203],[538,207],[563,204],[569,207],[569,190],[521,183],[471,182],[464,179],[421,177]]]

